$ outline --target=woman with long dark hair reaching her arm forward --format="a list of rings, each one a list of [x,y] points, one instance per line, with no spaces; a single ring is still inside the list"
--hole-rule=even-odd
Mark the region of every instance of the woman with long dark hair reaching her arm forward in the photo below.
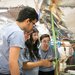
[[[25,45],[25,52],[21,52],[23,75],[38,75],[39,66],[50,67],[49,60],[40,60],[37,29],[33,29],[33,32],[30,34],[30,38],[25,42]]]

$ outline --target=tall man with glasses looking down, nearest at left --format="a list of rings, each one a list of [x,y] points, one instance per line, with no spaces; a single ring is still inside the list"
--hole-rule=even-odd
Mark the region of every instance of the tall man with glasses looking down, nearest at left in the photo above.
[[[38,21],[36,11],[26,6],[15,23],[7,23],[0,30],[0,75],[20,75],[18,58],[24,48],[24,33],[30,32]]]

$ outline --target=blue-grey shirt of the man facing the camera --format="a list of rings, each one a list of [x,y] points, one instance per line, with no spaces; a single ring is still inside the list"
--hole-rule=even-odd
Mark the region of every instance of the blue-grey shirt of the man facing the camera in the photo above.
[[[39,48],[39,54],[41,56],[41,59],[50,59],[50,57],[51,58],[55,57],[54,51],[52,51],[50,47],[46,52],[44,52],[43,50],[41,50],[41,48]],[[39,70],[42,72],[49,72],[54,70],[54,67],[53,65],[51,67],[40,67]]]

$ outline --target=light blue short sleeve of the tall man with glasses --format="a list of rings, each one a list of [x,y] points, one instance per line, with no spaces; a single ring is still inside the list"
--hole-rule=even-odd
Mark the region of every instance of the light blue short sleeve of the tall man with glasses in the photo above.
[[[13,32],[8,38],[9,46],[25,48],[24,33],[22,31]]]

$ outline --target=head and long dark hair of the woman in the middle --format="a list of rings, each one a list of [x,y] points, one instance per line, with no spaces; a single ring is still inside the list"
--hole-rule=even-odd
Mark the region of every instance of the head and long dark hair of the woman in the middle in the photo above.
[[[38,33],[39,31],[36,28],[34,28],[33,32],[30,34],[30,39],[28,39],[25,42],[25,45],[27,46],[30,53],[30,58],[32,60],[40,59],[39,49],[38,49],[38,46],[39,46]]]

